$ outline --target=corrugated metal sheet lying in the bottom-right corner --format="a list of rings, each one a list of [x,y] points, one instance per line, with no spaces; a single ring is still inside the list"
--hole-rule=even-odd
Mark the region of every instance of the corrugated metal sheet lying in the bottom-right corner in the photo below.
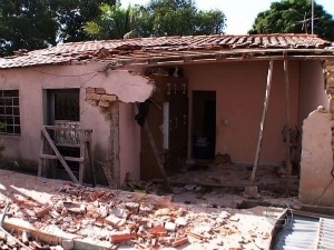
[[[334,250],[334,219],[294,216],[277,234],[273,250]]]

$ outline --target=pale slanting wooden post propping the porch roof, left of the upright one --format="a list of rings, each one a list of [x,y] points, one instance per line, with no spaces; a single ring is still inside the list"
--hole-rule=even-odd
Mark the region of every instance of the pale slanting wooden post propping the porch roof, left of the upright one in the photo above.
[[[258,158],[259,158],[259,153],[261,153],[263,131],[264,131],[265,119],[266,119],[266,113],[267,113],[268,102],[269,102],[271,87],[272,87],[272,81],[273,81],[272,80],[273,79],[273,64],[274,64],[274,62],[273,62],[273,60],[271,60],[269,61],[269,68],[268,68],[268,74],[267,74],[266,96],[265,96],[265,101],[264,101],[264,107],[263,107],[263,112],[262,112],[262,119],[261,119],[261,124],[259,124],[258,141],[257,141],[257,147],[256,147],[256,152],[255,152],[253,171],[252,171],[252,176],[250,176],[252,184],[254,183],[254,180],[255,180],[255,173],[256,173],[256,170],[257,170]]]

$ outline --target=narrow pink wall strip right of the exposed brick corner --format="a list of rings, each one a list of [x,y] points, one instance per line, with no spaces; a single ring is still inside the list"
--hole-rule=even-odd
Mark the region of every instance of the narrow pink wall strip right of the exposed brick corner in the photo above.
[[[120,103],[119,106],[119,158],[121,160],[120,180],[126,172],[130,172],[131,179],[140,178],[140,127],[135,121],[137,108],[134,103]]]

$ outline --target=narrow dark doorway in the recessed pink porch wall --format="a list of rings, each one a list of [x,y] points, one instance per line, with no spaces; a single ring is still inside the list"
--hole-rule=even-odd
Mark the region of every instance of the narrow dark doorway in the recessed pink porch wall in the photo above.
[[[214,159],[216,152],[216,91],[193,92],[193,157]]]

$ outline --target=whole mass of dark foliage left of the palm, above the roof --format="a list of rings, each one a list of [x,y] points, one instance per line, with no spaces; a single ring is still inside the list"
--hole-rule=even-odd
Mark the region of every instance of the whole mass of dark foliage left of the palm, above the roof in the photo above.
[[[90,39],[82,26],[99,14],[102,2],[116,0],[1,0],[0,57]]]

